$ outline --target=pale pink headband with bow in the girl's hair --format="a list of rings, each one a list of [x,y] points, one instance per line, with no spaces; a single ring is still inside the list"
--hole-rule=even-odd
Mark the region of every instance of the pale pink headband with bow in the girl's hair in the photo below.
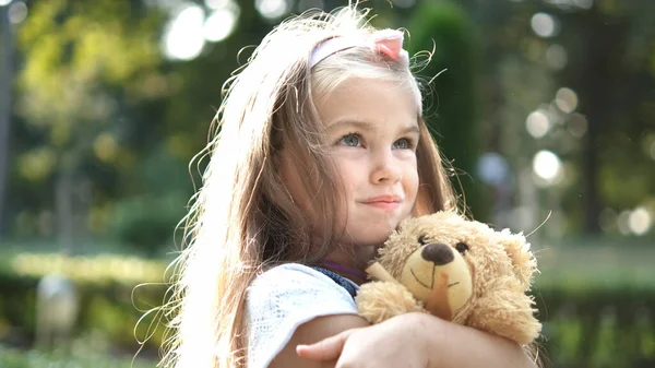
[[[314,48],[309,60],[309,68],[312,68],[332,54],[366,44],[370,45],[371,40],[378,52],[383,54],[393,60],[398,60],[405,67],[408,67],[409,55],[403,49],[403,38],[404,34],[396,29],[376,31],[371,35],[371,38],[365,38],[364,40],[360,37],[330,38]]]

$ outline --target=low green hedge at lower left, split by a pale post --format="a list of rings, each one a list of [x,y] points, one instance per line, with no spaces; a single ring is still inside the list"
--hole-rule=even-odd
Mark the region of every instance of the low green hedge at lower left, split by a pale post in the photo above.
[[[123,268],[123,271],[127,273],[129,269]],[[0,302],[0,343],[29,345],[33,341],[39,277],[7,273],[5,270],[0,273],[3,296]],[[134,282],[107,280],[100,275],[73,278],[80,298],[76,336],[97,333],[105,345],[129,353],[139,349],[139,342],[143,342],[146,352],[158,349],[164,340],[164,328],[152,323],[160,318],[160,313],[146,314],[146,311],[163,305],[166,290],[163,283],[136,287]]]

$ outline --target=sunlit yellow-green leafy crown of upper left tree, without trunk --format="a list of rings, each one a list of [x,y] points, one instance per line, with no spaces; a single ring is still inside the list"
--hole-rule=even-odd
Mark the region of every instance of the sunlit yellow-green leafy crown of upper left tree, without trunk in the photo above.
[[[107,87],[136,88],[158,67],[160,20],[124,0],[36,2],[19,33],[21,115],[59,147],[78,138],[82,122],[107,119]]]

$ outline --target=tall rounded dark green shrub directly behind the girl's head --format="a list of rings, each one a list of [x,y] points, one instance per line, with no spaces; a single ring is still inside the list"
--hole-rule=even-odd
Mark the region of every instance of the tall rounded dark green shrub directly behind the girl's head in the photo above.
[[[426,122],[457,173],[453,183],[464,195],[464,204],[483,219],[487,204],[480,182],[475,181],[476,161],[483,152],[477,121],[478,48],[473,25],[461,8],[448,1],[424,1],[408,28],[410,54],[434,47],[430,63],[420,72],[428,80],[434,78],[431,85],[425,85],[432,91]]]

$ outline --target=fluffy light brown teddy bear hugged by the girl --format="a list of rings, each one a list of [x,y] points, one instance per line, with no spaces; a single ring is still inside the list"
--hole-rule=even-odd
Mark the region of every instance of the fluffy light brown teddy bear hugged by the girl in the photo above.
[[[371,323],[422,311],[527,345],[541,331],[526,294],[537,271],[522,234],[441,211],[398,225],[356,302]]]

